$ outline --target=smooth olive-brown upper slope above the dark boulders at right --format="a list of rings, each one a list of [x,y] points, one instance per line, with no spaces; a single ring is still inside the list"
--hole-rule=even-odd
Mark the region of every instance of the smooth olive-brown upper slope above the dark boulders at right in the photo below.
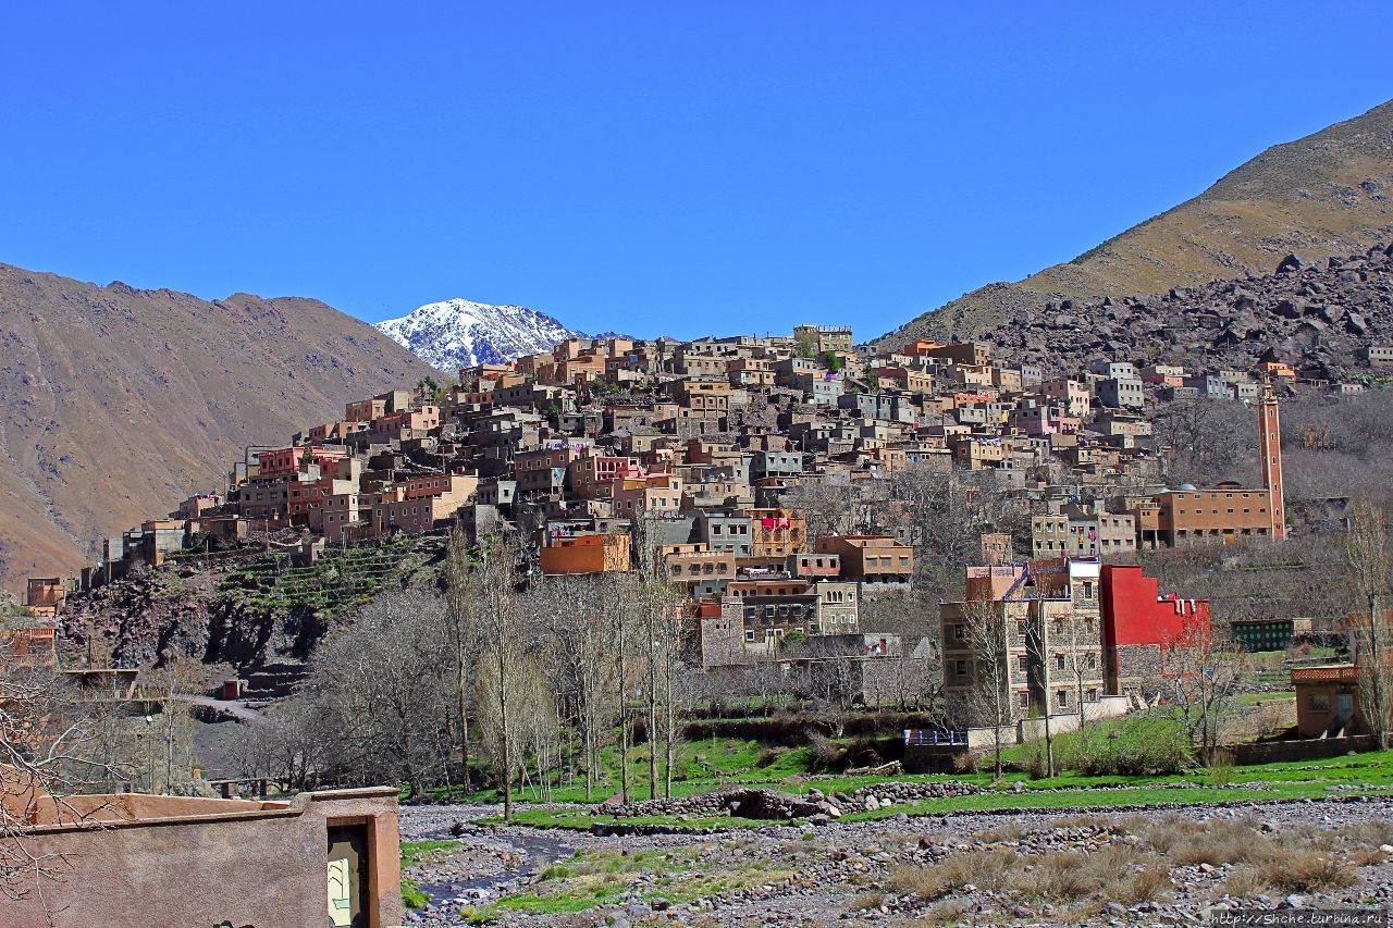
[[[995,283],[885,336],[970,339],[1048,302],[1165,293],[1312,262],[1393,237],[1393,102],[1276,145],[1194,199],[1063,265]]]

